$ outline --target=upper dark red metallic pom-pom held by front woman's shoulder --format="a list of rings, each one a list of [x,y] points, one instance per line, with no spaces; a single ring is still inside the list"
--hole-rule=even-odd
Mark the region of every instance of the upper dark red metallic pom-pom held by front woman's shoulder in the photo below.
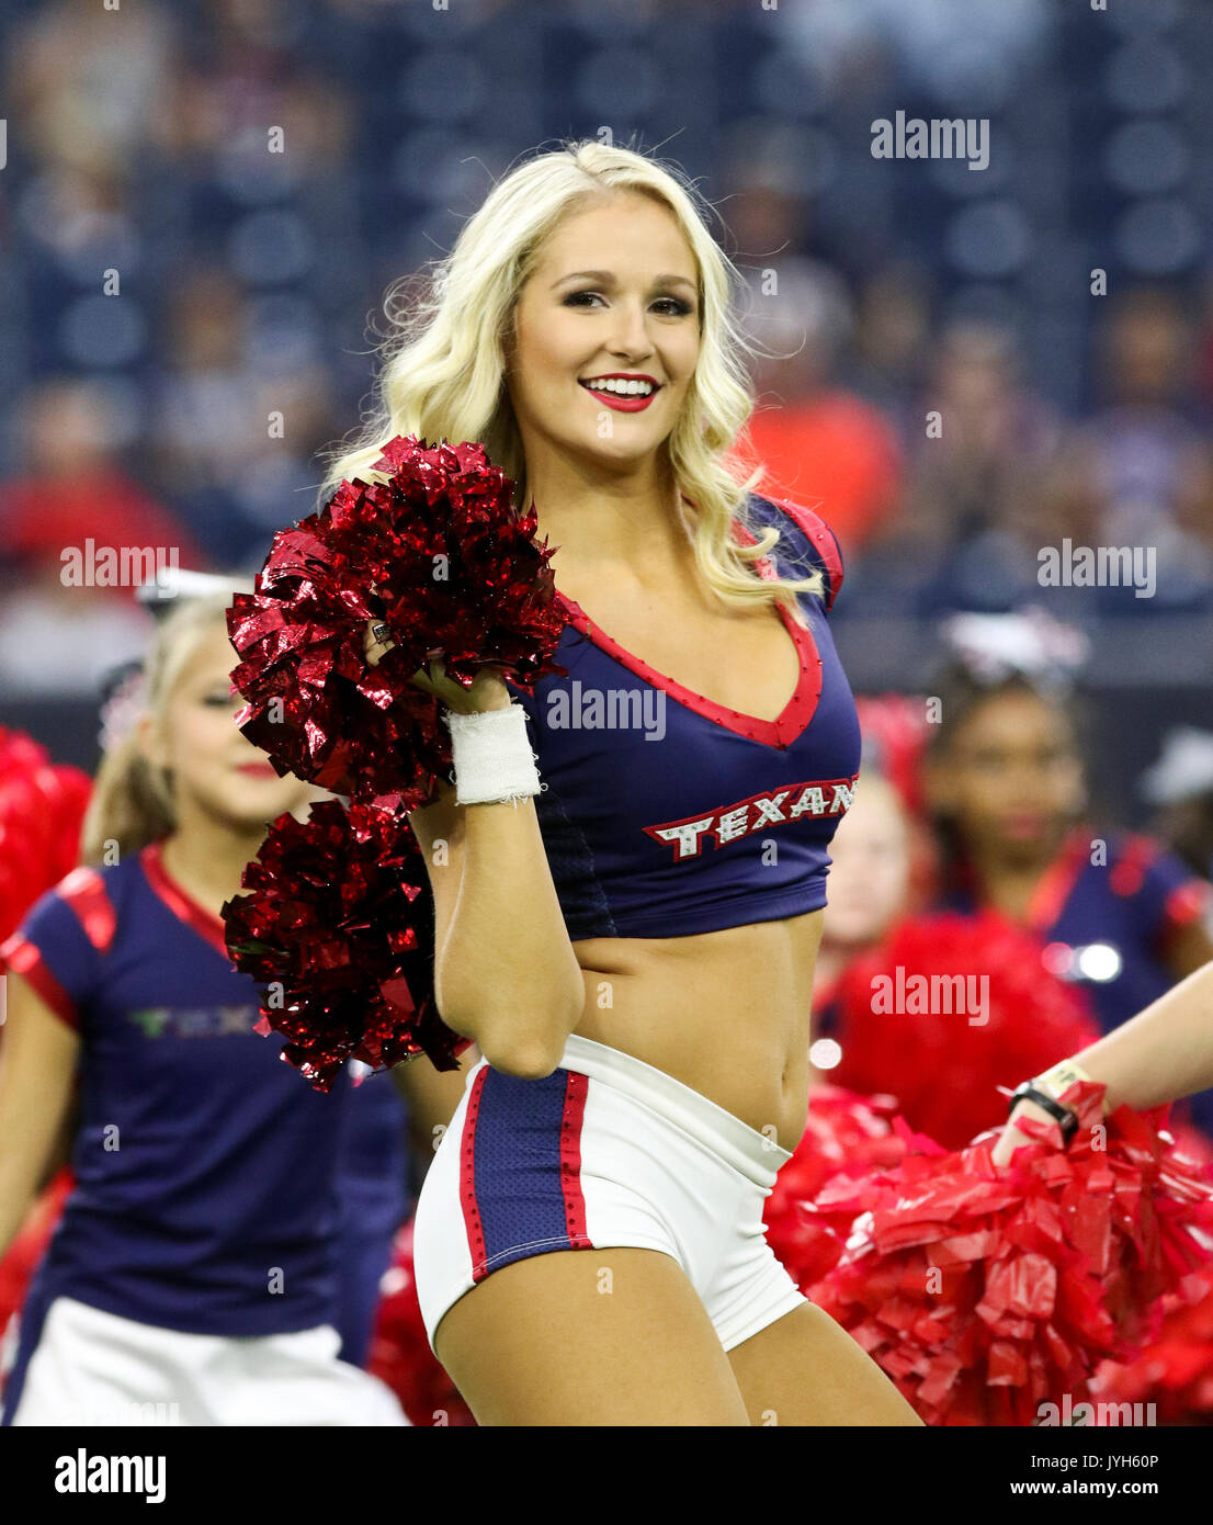
[[[248,700],[244,735],[294,773],[350,798],[431,798],[451,766],[437,700],[413,683],[442,657],[471,683],[485,663],[530,691],[553,665],[567,622],[535,514],[477,444],[427,448],[396,438],[372,468],[387,482],[343,482],[318,514],[279,531],[253,593],[227,615],[241,656],[232,680]],[[390,651],[370,666],[369,621]]]

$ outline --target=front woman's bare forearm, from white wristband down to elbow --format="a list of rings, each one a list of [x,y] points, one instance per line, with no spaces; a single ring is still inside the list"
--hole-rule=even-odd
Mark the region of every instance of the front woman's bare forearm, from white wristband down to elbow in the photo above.
[[[517,1058],[550,1074],[581,1020],[585,984],[535,802],[459,808],[459,894],[434,965],[439,1011],[489,1063],[500,1055],[506,1068]]]

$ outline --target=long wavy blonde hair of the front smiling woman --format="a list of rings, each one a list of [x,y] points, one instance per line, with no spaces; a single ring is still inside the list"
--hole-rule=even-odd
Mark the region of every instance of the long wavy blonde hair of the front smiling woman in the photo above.
[[[379,346],[379,380],[372,416],[352,445],[329,450],[320,490],[326,500],[343,479],[375,480],[370,471],[396,435],[428,444],[465,439],[483,444],[489,459],[517,483],[523,508],[526,459],[509,393],[506,354],[518,296],[539,262],[544,241],[561,221],[614,195],[651,197],[677,220],[698,267],[699,358],[686,403],[663,444],[680,493],[693,515],[695,564],[728,604],[785,604],[805,622],[797,595],[823,592],[818,570],[808,576],[759,580],[753,563],[779,540],[771,526],[750,523],[748,494],[765,476],[759,464],[738,479],[725,458],[754,410],[744,363],[754,345],[736,317],[735,288],[745,278],[707,230],[710,206],[683,175],[631,148],[582,140],[539,152],[504,175],[463,224],[451,253],[389,288],[386,313],[395,325]],[[733,538],[739,518],[756,543]]]

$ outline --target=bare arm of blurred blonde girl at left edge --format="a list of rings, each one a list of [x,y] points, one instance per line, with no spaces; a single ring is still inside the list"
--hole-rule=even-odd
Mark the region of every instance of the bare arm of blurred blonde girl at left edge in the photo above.
[[[0,1255],[47,1180],[72,1100],[79,1039],[30,985],[8,973],[0,1042]]]

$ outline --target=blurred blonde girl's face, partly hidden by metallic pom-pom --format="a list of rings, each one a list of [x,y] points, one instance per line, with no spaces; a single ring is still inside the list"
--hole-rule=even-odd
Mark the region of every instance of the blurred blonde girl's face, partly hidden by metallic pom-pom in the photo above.
[[[264,828],[286,810],[315,798],[311,784],[279,778],[270,759],[236,729],[244,698],[230,692],[235,653],[221,622],[198,644],[183,666],[157,732],[140,721],[140,744],[158,767],[172,770],[178,822],[201,811],[235,831]]]

